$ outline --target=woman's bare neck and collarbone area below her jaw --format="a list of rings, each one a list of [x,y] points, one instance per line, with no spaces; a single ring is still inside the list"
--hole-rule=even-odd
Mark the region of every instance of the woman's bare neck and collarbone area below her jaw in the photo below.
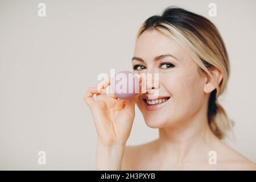
[[[218,141],[207,122],[207,111],[200,109],[184,121],[159,129],[159,152],[170,163],[179,165],[191,160],[205,160]]]

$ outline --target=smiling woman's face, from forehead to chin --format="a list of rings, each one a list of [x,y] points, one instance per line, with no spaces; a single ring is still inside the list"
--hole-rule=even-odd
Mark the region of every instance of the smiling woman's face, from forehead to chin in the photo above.
[[[137,100],[147,126],[160,128],[188,121],[203,105],[205,78],[195,61],[164,34],[144,31],[137,40],[132,64],[134,73],[158,73],[159,77],[156,85],[154,80],[148,82],[148,92]]]

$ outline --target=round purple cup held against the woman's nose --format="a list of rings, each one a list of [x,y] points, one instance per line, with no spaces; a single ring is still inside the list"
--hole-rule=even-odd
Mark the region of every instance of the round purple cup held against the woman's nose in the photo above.
[[[118,72],[112,77],[111,89],[118,98],[131,100],[139,93],[139,78],[129,71]]]

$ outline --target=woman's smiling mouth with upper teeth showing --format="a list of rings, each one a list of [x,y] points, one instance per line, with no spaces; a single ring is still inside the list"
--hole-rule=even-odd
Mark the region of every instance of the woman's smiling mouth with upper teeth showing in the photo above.
[[[143,98],[144,101],[144,105],[146,107],[147,110],[152,111],[152,110],[158,110],[160,109],[162,106],[164,106],[166,104],[166,102],[170,99],[171,97],[162,97],[162,98],[158,98],[155,100],[150,100],[147,98]]]

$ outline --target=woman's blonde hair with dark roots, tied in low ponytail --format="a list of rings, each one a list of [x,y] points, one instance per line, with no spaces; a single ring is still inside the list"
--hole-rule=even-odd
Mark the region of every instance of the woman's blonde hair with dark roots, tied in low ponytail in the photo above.
[[[168,7],[161,16],[151,16],[142,24],[137,39],[146,30],[162,32],[178,43],[187,50],[200,71],[207,73],[215,82],[216,89],[209,97],[208,123],[216,137],[224,138],[227,131],[232,129],[232,125],[217,97],[226,89],[230,65],[228,53],[217,28],[204,16],[178,7]],[[220,84],[210,72],[213,67],[222,73]]]

